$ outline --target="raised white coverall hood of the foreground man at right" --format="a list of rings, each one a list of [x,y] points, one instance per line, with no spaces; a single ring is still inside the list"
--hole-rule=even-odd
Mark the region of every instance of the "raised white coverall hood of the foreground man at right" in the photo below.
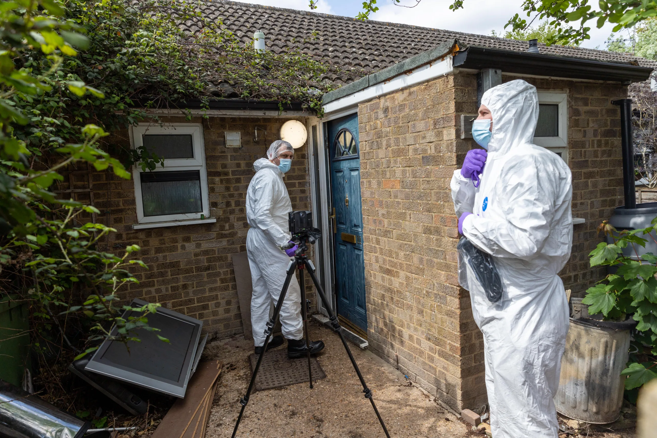
[[[538,121],[536,87],[522,79],[493,87],[482,96],[493,116],[488,152],[506,154],[518,144],[532,144]]]

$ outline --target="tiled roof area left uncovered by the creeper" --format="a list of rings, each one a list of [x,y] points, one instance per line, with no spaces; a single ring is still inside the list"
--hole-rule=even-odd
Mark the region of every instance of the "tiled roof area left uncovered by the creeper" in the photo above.
[[[526,41],[451,32],[407,24],[359,21],[352,17],[319,14],[310,11],[252,5],[227,0],[205,0],[204,14],[214,20],[223,20],[242,41],[250,41],[254,32],[265,33],[267,49],[279,52],[284,47],[295,47],[324,58],[342,68],[359,68],[374,72],[392,66],[432,49],[440,43],[457,39],[463,45],[491,47],[511,51],[526,51]],[[194,31],[193,26],[189,29]],[[317,37],[311,39],[311,33]],[[540,45],[541,53],[549,55],[587,58],[603,62],[623,62],[657,68],[657,62],[637,56],[581,49],[579,47],[547,47]],[[336,77],[338,83],[350,82],[355,77]],[[360,75],[362,76],[362,75]]]

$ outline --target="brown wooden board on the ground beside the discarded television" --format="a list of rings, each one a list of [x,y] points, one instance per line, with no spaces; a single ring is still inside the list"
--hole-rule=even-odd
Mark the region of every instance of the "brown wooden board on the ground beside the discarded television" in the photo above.
[[[197,425],[206,415],[204,406],[208,403],[208,397],[216,389],[216,382],[221,373],[221,361],[200,362],[194,376],[189,380],[187,392],[184,399],[177,399],[151,438],[181,438],[190,429],[198,429]],[[189,435],[191,436],[191,435]]]

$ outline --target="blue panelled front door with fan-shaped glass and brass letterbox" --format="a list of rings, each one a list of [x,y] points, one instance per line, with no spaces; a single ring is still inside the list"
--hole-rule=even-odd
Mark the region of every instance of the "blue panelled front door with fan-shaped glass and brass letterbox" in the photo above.
[[[358,115],[328,125],[338,315],[367,333]]]

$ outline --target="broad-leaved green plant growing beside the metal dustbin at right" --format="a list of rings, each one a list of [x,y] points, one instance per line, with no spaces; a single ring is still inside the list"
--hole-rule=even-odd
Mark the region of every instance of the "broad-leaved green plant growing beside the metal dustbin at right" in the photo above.
[[[627,368],[625,389],[635,389],[657,378],[657,255],[639,256],[639,247],[655,240],[657,217],[645,229],[617,231],[604,221],[599,231],[613,243],[601,242],[589,255],[591,267],[616,267],[598,284],[586,291],[584,304],[589,314],[602,313],[606,320],[623,321],[627,315],[637,321],[633,331],[632,353]],[[631,248],[630,255],[623,250]]]

